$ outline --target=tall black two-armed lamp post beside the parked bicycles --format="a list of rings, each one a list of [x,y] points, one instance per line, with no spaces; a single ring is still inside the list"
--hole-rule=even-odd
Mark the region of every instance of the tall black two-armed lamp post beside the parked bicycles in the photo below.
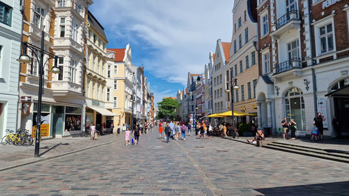
[[[19,56],[19,59],[17,59],[17,61],[19,61],[20,63],[30,63],[31,59],[30,57],[27,55],[27,48],[29,48],[30,50],[32,50],[33,54],[35,55],[35,57],[37,58],[37,61],[39,62],[39,93],[38,93],[38,98],[37,98],[37,132],[35,135],[35,154],[34,157],[39,157],[39,149],[40,149],[40,126],[41,126],[41,98],[42,98],[42,92],[43,92],[43,85],[44,85],[44,55],[48,55],[48,59],[55,59],[55,66],[53,66],[53,68],[51,69],[51,72],[54,74],[59,73],[59,68],[57,66],[57,62],[58,62],[58,57],[50,52],[47,52],[46,50],[44,50],[44,41],[45,41],[45,32],[44,30],[41,30],[41,48],[34,46],[26,41],[22,42],[23,45],[23,53],[21,54],[21,56]],[[37,56],[37,53],[35,52],[35,50],[39,50],[40,51],[40,59]]]

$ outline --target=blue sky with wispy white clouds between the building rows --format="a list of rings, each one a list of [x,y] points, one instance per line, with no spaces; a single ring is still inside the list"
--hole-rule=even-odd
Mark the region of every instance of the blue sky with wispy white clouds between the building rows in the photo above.
[[[204,72],[217,39],[231,41],[233,6],[234,0],[95,0],[89,9],[105,29],[107,48],[130,43],[133,65],[144,66],[158,103],[176,97],[189,71]]]

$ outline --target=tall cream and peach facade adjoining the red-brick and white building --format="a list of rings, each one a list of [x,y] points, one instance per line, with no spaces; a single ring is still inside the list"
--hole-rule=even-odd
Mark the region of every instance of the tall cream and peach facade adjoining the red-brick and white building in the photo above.
[[[233,35],[229,63],[225,68],[227,86],[236,79],[240,89],[233,91],[234,111],[257,115],[256,83],[259,76],[256,58],[257,15],[256,1],[235,1],[233,8]],[[232,98],[227,94],[227,108],[231,110]],[[257,123],[251,116],[239,117],[237,123]]]

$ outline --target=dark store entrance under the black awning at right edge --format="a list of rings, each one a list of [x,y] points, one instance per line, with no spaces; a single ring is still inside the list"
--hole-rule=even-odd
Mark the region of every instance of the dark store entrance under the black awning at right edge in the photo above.
[[[334,113],[339,121],[339,132],[349,137],[349,97],[334,97]]]

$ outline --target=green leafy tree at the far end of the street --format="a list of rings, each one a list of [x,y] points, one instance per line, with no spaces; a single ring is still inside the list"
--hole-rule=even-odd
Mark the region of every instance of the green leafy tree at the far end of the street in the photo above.
[[[174,120],[176,119],[176,108],[178,101],[172,98],[162,99],[158,102],[159,113],[157,119]]]

